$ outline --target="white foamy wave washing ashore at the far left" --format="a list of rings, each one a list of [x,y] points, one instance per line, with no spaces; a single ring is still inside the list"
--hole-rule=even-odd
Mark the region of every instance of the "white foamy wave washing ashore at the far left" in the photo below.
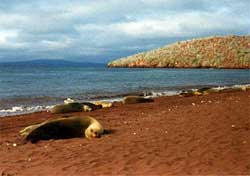
[[[11,109],[1,109],[0,110],[0,117],[3,116],[12,116],[12,115],[21,115],[21,114],[28,114],[38,111],[46,111],[50,109],[52,106],[14,106]]]

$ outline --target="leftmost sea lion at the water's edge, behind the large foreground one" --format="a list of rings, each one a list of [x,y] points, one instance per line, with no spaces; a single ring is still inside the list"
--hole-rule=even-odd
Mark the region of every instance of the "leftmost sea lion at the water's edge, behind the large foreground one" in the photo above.
[[[56,105],[50,110],[50,112],[53,114],[69,113],[69,112],[81,112],[81,111],[83,111],[82,104],[77,103],[77,102]]]

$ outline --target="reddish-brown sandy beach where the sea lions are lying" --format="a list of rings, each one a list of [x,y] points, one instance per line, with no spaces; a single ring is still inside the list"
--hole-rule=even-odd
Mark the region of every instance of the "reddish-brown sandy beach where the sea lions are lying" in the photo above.
[[[22,144],[18,131],[48,112],[0,118],[2,175],[250,174],[250,91],[160,97],[91,115],[113,131],[88,140]],[[79,113],[75,113],[79,114]],[[13,144],[17,146],[13,146]]]

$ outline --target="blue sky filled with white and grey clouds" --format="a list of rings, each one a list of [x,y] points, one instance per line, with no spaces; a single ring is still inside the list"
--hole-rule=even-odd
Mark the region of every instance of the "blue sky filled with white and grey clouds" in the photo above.
[[[250,34],[249,0],[0,0],[0,62],[106,62],[229,34]]]

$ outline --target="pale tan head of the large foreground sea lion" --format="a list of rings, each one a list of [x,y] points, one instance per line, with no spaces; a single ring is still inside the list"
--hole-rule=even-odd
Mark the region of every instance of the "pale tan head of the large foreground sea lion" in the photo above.
[[[93,123],[85,130],[86,138],[100,138],[104,130],[101,124]]]

